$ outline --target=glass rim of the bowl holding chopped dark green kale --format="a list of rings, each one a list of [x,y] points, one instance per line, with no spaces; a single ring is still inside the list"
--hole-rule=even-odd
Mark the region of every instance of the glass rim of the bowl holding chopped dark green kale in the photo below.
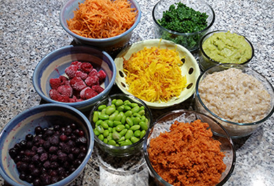
[[[212,12],[212,20],[211,20],[210,24],[207,25],[207,27],[206,27],[205,29],[202,29],[202,30],[200,30],[199,32],[193,32],[193,33],[175,32],[175,31],[172,31],[172,30],[170,30],[170,29],[166,29],[165,27],[163,27],[162,25],[160,25],[159,22],[155,19],[154,13],[155,13],[155,9],[156,9],[157,5],[160,4],[160,3],[162,2],[162,0],[160,0],[160,1],[159,1],[157,4],[155,4],[155,6],[153,7],[153,9],[152,9],[152,19],[153,19],[153,21],[155,22],[155,24],[156,24],[158,27],[160,27],[161,29],[164,29],[164,31],[169,32],[170,34],[175,34],[175,35],[179,35],[179,36],[192,36],[192,35],[196,35],[196,34],[201,34],[202,32],[207,31],[207,30],[214,24],[214,22],[215,22],[215,12],[214,12],[213,8],[212,8],[209,4],[207,4],[207,2],[205,2],[205,1],[203,1],[203,0],[199,0],[199,1],[201,1],[203,4],[205,4],[206,6],[208,6],[209,9],[210,9],[211,12]]]

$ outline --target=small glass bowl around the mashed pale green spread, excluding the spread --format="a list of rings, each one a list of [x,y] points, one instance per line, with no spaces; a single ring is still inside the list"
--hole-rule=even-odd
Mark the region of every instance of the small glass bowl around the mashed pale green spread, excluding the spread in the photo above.
[[[200,48],[200,51],[199,51],[199,65],[200,65],[200,68],[202,70],[205,70],[209,67],[212,67],[214,65],[218,65],[218,64],[221,63],[219,61],[213,60],[212,58],[209,57],[209,55],[207,55],[204,52],[203,44],[204,44],[204,41],[206,41],[213,34],[223,33],[223,32],[228,32],[228,31],[227,30],[215,30],[213,32],[209,32],[209,33],[205,34],[204,36],[202,36],[202,39],[200,40],[200,44],[199,44],[199,48]],[[241,36],[240,34],[237,34],[237,35]],[[245,36],[243,36],[243,37],[244,37],[244,40],[247,42],[247,44],[249,44],[250,49],[252,50],[251,58],[249,58],[248,60],[240,63],[241,65],[247,65],[248,62],[250,62],[252,60],[252,58],[254,57],[254,48],[253,48],[252,43]],[[217,46],[216,46],[216,48],[217,48]],[[230,61],[229,63],[233,63],[233,62]]]

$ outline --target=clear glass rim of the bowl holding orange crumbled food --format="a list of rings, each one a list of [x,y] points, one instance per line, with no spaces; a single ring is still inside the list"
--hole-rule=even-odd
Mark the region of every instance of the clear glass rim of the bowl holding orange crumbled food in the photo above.
[[[209,115],[207,114],[203,114],[201,112],[197,112],[197,111],[191,111],[191,110],[187,110],[187,109],[177,109],[177,110],[173,110],[173,111],[170,111],[170,112],[167,112],[165,114],[162,114],[161,116],[159,116],[152,124],[152,126],[150,126],[150,128],[148,128],[148,131],[147,133],[145,134],[145,140],[144,140],[144,143],[143,143],[143,154],[144,154],[144,157],[145,157],[145,162],[146,164],[148,165],[148,169],[152,172],[153,175],[155,175],[157,177],[157,180],[159,180],[159,182],[162,182],[164,183],[164,185],[167,185],[167,186],[172,186],[171,184],[169,184],[169,182],[167,182],[166,180],[164,180],[156,171],[155,169],[152,167],[152,164],[150,163],[150,159],[149,159],[149,155],[148,155],[148,138],[149,138],[149,135],[150,135],[150,131],[152,131],[152,128],[155,126],[155,124],[157,124],[157,122],[159,120],[161,120],[162,118],[168,116],[169,114],[176,114],[176,113],[180,113],[180,112],[190,112],[190,113],[197,113],[197,114],[201,114],[205,117],[208,117],[210,118],[212,121],[214,121],[216,124],[218,124],[218,126],[220,126],[223,131],[226,133],[226,135],[218,135],[215,133],[215,135],[218,135],[220,137],[223,137],[223,138],[228,138],[229,142],[230,142],[230,145],[231,145],[231,148],[232,148],[232,151],[233,151],[233,159],[232,159],[232,164],[231,164],[231,167],[230,167],[230,170],[228,171],[228,174],[226,175],[225,178],[223,178],[223,180],[221,182],[219,182],[216,186],[221,186],[223,185],[231,176],[231,174],[233,173],[234,171],[234,168],[235,168],[235,164],[236,164],[236,150],[235,150],[235,146],[234,146],[234,143],[233,143],[233,140],[232,138],[230,137],[230,134],[228,133],[228,131],[226,130],[226,128],[224,128],[218,121],[216,121],[216,119],[214,119],[213,117],[210,117]]]

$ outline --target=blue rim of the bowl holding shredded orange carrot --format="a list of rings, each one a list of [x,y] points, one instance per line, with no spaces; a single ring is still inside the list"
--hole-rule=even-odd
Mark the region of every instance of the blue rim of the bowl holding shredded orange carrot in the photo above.
[[[137,3],[137,1],[135,0],[129,0],[131,1],[131,3],[133,3],[135,6],[136,6],[136,10],[138,11],[138,14],[137,14],[137,19],[136,21],[134,22],[134,24],[128,29],[126,30],[126,32],[122,33],[122,34],[119,34],[117,36],[112,36],[112,37],[109,37],[109,38],[103,38],[103,39],[93,39],[93,38],[87,38],[87,37],[84,37],[84,36],[80,36],[78,34],[74,34],[74,32],[72,32],[68,27],[66,27],[66,23],[65,23],[65,20],[62,19],[62,15],[64,14],[65,12],[65,8],[67,6],[67,4],[70,4],[72,3],[73,1],[75,0],[69,0],[67,1],[63,7],[61,8],[61,11],[60,11],[60,15],[59,15],[59,20],[60,20],[60,24],[61,26],[63,27],[63,29],[65,29],[65,31],[74,36],[75,38],[77,39],[81,39],[82,41],[86,41],[86,42],[94,42],[94,43],[100,43],[100,42],[110,42],[110,41],[115,41],[117,39],[121,39],[123,36],[125,36],[126,34],[129,34],[130,32],[133,31],[133,29],[135,29],[135,27],[138,25],[138,23],[140,22],[141,20],[141,8],[139,6],[139,4]]]

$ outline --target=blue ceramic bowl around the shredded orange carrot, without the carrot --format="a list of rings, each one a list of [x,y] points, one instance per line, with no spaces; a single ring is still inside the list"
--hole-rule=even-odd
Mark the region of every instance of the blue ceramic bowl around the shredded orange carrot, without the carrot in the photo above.
[[[62,25],[63,29],[70,34],[74,40],[79,44],[87,44],[91,46],[96,46],[97,48],[103,49],[104,51],[110,52],[115,51],[118,48],[122,48],[125,46],[129,40],[131,39],[131,34],[133,29],[136,28],[138,23],[141,20],[141,8],[138,3],[134,0],[129,0],[131,2],[131,8],[136,8],[138,14],[136,15],[136,19],[132,27],[123,34],[119,34],[118,36],[113,36],[107,39],[92,39],[87,38],[84,36],[79,36],[78,34],[74,34],[68,26],[67,20],[74,18],[74,11],[79,7],[79,3],[84,3],[84,0],[70,0],[65,3],[63,8],[60,11],[60,24]]]

